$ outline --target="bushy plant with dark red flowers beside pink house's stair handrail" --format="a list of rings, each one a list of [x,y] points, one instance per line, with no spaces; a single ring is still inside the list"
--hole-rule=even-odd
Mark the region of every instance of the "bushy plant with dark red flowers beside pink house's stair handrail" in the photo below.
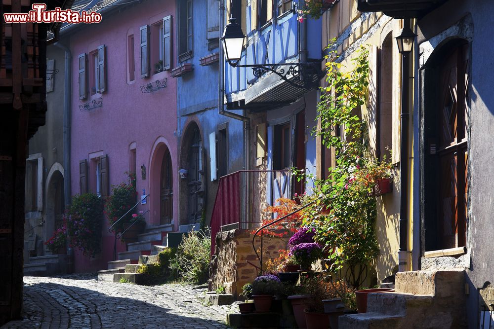
[[[113,225],[117,220],[124,216],[130,208],[132,208],[137,200],[137,191],[135,188],[135,175],[131,173],[125,173],[128,176],[128,183],[120,183],[112,186],[112,194],[108,197],[105,203],[105,215],[110,221],[110,225]],[[112,227],[113,232],[123,232],[125,224],[129,224],[134,221],[144,221],[142,215],[136,213],[128,213],[120,220],[117,225]],[[122,237],[123,238],[123,237]]]

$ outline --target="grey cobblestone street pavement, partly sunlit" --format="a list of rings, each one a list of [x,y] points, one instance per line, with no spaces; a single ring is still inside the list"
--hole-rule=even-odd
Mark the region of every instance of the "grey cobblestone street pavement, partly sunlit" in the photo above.
[[[24,277],[24,318],[4,328],[228,328],[238,307],[207,306],[206,289],[97,281],[94,275]]]

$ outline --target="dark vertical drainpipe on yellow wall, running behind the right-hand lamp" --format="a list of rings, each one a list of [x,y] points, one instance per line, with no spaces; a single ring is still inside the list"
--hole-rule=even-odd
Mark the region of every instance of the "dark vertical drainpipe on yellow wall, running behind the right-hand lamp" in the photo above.
[[[403,20],[403,28],[410,28],[410,19]],[[401,136],[400,136],[400,250],[398,271],[410,270],[408,257],[408,197],[409,197],[409,118],[410,118],[410,55],[402,54],[401,81]]]

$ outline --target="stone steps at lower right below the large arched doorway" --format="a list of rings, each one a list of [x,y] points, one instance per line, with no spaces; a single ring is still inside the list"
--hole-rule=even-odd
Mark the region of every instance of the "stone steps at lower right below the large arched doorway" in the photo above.
[[[339,328],[466,328],[465,271],[399,272],[395,292],[370,293],[367,313],[340,316]]]

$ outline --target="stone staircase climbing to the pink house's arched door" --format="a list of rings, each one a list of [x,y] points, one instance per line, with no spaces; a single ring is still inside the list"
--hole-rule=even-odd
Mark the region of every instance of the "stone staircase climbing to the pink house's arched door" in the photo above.
[[[118,260],[108,262],[108,269],[98,271],[98,281],[114,280],[114,274],[124,273],[125,266],[137,264],[140,256],[157,255],[168,246],[168,234],[173,224],[147,227],[137,236],[137,242],[127,243],[127,251],[118,253]]]

